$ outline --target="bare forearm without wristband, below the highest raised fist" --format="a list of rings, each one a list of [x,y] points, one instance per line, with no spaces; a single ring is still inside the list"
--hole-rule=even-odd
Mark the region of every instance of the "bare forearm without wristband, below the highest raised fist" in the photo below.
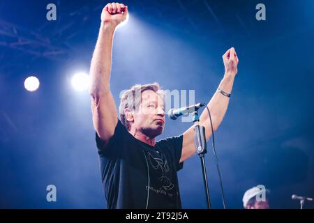
[[[91,94],[109,91],[112,65],[112,42],[115,26],[102,22],[91,59],[89,91]]]

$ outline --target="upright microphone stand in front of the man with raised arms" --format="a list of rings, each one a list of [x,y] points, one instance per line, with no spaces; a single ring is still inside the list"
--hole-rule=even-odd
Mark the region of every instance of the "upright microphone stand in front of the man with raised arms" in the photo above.
[[[194,123],[194,144],[197,154],[200,156],[202,164],[202,173],[204,178],[204,187],[206,192],[207,208],[211,209],[211,201],[209,199],[209,187],[207,181],[207,173],[205,166],[205,153],[207,153],[206,134],[204,126],[200,125],[200,117],[197,114],[198,108],[195,108],[193,123]]]

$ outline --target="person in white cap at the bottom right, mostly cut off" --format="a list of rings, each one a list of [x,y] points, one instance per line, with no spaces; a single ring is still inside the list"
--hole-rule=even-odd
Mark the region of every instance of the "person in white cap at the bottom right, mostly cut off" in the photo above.
[[[269,201],[266,198],[266,193],[269,194],[269,192],[269,190],[265,190],[264,185],[257,185],[247,190],[242,199],[244,208],[269,209]]]

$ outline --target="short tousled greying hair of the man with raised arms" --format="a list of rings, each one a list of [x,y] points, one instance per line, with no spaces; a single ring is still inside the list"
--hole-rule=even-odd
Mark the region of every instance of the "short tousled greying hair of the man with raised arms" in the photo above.
[[[119,116],[121,123],[126,126],[127,130],[130,130],[130,123],[126,120],[126,116],[124,114],[125,109],[130,109],[130,111],[135,111],[140,107],[142,101],[142,92],[151,90],[160,96],[164,96],[163,91],[160,91],[160,86],[157,82],[153,84],[135,84],[130,89],[124,91],[121,95],[121,101],[119,106]]]

